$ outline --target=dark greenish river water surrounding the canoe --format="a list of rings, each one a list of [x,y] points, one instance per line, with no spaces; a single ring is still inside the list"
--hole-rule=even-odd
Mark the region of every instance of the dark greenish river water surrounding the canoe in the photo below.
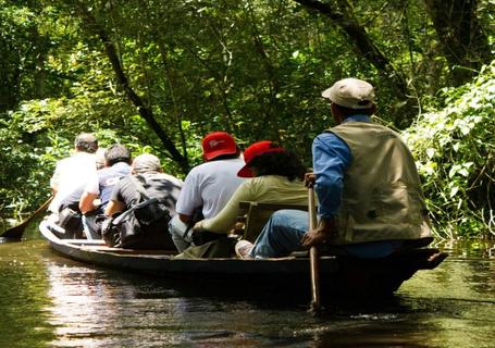
[[[313,316],[306,300],[214,296],[70,261],[27,236],[0,243],[2,348],[495,347],[493,245],[444,245],[450,257],[392,299]]]

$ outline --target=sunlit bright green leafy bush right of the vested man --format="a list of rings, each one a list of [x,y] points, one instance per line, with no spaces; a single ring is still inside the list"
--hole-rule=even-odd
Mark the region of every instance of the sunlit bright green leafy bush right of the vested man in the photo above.
[[[418,160],[440,236],[495,231],[494,77],[495,62],[472,84],[444,89],[446,107],[422,114],[403,134]]]

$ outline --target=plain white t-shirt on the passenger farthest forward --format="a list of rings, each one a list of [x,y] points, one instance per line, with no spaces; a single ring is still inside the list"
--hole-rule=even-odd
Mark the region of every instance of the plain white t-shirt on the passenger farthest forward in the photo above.
[[[76,189],[85,185],[88,177],[96,175],[96,157],[94,153],[76,152],[57,163],[50,186],[57,195],[48,209],[58,212],[60,203]]]

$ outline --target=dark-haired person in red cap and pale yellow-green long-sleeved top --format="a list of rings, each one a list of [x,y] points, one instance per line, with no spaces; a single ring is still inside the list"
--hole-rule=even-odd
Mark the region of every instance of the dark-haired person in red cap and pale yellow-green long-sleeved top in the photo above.
[[[308,204],[304,184],[306,167],[299,159],[277,144],[263,140],[244,151],[245,165],[238,171],[247,179],[237,188],[222,211],[194,226],[195,233],[208,231],[226,235],[242,214],[239,202]]]

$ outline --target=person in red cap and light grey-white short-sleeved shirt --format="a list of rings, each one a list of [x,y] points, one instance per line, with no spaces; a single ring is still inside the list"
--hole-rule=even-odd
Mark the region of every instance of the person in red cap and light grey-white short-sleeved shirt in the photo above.
[[[201,219],[215,216],[243,183],[237,172],[244,161],[232,135],[226,132],[210,133],[202,139],[201,147],[206,162],[187,174],[176,204],[178,214],[169,226],[175,247],[181,252],[191,243],[196,215],[201,215]]]

